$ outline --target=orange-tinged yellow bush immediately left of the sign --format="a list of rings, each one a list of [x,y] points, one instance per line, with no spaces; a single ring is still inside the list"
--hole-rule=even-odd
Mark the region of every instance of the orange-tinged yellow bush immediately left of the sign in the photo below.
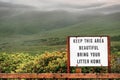
[[[65,72],[66,70],[65,52],[45,52],[36,55],[33,61],[29,61],[24,66],[19,66],[17,72],[46,73],[46,72]]]

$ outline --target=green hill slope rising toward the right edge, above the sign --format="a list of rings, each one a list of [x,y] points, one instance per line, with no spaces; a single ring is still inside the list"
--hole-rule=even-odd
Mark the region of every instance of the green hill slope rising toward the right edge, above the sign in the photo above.
[[[59,30],[54,30],[56,36],[67,35],[120,35],[120,14],[94,16],[83,22]],[[84,17],[83,17],[84,18]],[[51,32],[52,33],[52,32]],[[61,34],[62,33],[62,34]]]

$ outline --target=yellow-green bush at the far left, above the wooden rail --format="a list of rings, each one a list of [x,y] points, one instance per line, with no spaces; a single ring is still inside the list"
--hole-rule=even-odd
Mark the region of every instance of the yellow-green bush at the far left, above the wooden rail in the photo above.
[[[23,63],[27,63],[29,60],[32,60],[33,57],[29,54],[16,53],[16,54],[7,54],[2,53],[0,55],[0,72],[2,73],[13,73],[16,72],[18,66],[23,66]]]

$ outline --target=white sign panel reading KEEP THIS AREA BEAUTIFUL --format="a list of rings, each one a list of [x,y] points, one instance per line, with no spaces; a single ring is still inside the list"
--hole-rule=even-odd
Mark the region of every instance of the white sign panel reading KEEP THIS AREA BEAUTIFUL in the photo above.
[[[69,37],[70,66],[108,66],[108,37]]]

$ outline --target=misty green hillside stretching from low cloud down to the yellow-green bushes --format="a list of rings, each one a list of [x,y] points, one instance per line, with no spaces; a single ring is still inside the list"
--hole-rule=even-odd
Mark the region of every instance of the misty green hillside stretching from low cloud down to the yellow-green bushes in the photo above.
[[[109,15],[66,11],[28,11],[0,18],[0,51],[30,52],[65,48],[67,36],[109,35],[120,46],[120,13]]]

